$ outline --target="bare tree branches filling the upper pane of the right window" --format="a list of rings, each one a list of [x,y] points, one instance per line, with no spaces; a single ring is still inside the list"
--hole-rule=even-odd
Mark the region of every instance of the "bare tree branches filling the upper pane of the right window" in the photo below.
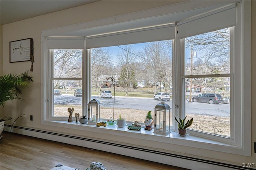
[[[225,28],[186,38],[186,48],[200,51],[196,57],[200,59],[201,67],[195,73],[212,74],[228,73],[230,64],[230,29]],[[194,64],[194,63],[193,63]],[[223,69],[226,68],[226,69]],[[193,69],[193,68],[191,68]],[[193,71],[194,73],[194,71]]]

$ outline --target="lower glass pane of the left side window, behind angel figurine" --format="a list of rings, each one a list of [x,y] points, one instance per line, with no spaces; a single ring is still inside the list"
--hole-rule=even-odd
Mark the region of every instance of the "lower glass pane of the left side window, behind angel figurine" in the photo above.
[[[82,115],[82,80],[53,80],[53,84],[52,116],[68,117],[69,107],[74,108],[74,113]]]

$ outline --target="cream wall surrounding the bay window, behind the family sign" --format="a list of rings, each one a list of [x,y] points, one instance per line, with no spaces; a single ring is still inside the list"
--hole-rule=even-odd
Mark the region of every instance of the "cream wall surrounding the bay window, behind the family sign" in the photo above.
[[[2,46],[1,46],[1,64],[3,74],[14,73],[20,74],[24,70],[30,69],[30,62],[18,62],[9,63],[9,42],[15,40],[21,40],[25,38],[34,39],[34,71],[30,72],[30,75],[34,77],[34,82],[28,89],[25,89],[22,98],[26,100],[26,103],[21,101],[14,101],[13,103],[6,103],[5,107],[1,107],[2,115],[9,115],[13,119],[16,119],[22,113],[26,114],[26,118],[21,120],[18,119],[15,123],[17,126],[34,128],[44,131],[55,131],[58,133],[74,134],[87,136],[90,138],[104,138],[106,141],[117,142],[117,143],[130,143],[132,144],[131,138],[117,139],[116,136],[106,136],[103,133],[87,133],[84,134],[82,130],[72,130],[69,128],[51,127],[41,124],[41,31],[51,28],[58,28],[62,26],[72,25],[81,22],[87,22],[97,19],[102,19],[111,16],[117,16],[130,12],[136,12],[140,10],[146,10],[158,6],[164,6],[166,4],[172,4],[176,1],[100,1],[76,8],[70,8],[51,14],[46,14],[19,22],[14,22],[2,26]],[[180,2],[180,1],[178,1]],[[202,1],[203,2],[203,1]],[[252,65],[256,65],[256,2],[252,2]],[[256,77],[256,67],[252,67],[252,77]],[[256,121],[256,89],[254,85],[256,79],[252,78],[252,125]],[[34,120],[30,121],[29,117],[33,115]],[[12,120],[13,122],[13,120]],[[9,123],[12,123],[9,122]],[[253,123],[254,122],[254,123]],[[134,139],[136,140],[136,139]],[[252,126],[252,144],[256,142],[256,127]],[[142,148],[150,147],[150,149],[158,150],[158,146],[166,148],[166,152],[180,154],[185,156],[191,156],[196,158],[202,158],[206,160],[212,160],[217,162],[224,162],[228,164],[234,164],[241,166],[242,163],[256,163],[256,154],[253,152],[254,147],[252,146],[252,156],[240,156],[235,154],[228,154],[223,152],[216,152],[210,150],[203,150],[192,147],[180,147],[178,145],[168,145],[158,142],[147,142],[145,140],[137,140],[136,145]]]

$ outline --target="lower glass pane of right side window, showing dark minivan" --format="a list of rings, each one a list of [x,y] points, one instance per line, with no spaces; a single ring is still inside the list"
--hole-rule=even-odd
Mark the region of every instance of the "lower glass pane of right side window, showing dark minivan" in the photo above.
[[[189,128],[230,137],[230,77],[186,81],[185,106],[186,116],[194,120]]]

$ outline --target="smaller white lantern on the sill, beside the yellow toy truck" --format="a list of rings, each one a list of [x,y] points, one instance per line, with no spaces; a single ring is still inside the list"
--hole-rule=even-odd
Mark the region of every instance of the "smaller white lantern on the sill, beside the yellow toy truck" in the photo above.
[[[87,125],[96,125],[100,121],[100,101],[92,99],[88,103],[88,123]]]

